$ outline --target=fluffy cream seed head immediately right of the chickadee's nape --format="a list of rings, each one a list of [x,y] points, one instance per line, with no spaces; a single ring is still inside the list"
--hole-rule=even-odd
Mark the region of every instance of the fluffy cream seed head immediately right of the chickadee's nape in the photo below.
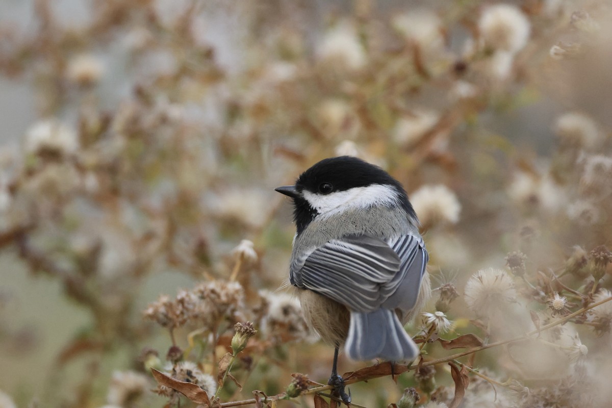
[[[412,193],[410,201],[419,220],[426,226],[459,221],[461,204],[445,185],[424,185]]]

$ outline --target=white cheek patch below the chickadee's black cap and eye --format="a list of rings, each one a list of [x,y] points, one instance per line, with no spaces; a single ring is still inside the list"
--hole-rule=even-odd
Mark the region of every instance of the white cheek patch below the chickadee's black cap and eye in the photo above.
[[[328,195],[303,190],[302,196],[319,213],[333,210],[361,209],[371,206],[393,206],[398,202],[397,190],[390,185],[373,184],[367,187],[353,187],[335,191]]]

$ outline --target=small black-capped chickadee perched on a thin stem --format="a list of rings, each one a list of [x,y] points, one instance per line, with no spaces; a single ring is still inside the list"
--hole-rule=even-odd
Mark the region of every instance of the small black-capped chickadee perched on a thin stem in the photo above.
[[[400,182],[356,157],[321,160],[275,190],[294,202],[289,281],[308,324],[335,346],[329,384],[348,402],[339,347],[352,360],[419,354],[403,328],[430,295],[419,221]]]

